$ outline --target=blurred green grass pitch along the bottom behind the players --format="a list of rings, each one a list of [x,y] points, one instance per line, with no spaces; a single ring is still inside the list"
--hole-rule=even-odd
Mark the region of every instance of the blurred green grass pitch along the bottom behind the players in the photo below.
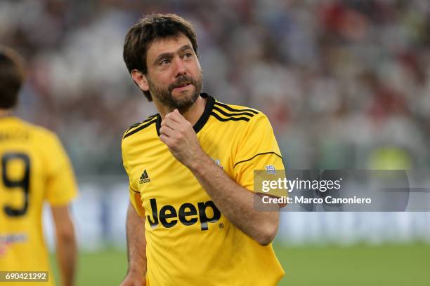
[[[279,285],[430,285],[430,245],[275,245],[275,252],[286,271]],[[77,285],[119,285],[126,263],[125,250],[80,253]]]

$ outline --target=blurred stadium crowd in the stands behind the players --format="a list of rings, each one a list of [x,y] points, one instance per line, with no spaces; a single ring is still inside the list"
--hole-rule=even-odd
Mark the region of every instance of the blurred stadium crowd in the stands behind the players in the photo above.
[[[193,22],[204,91],[265,112],[287,168],[430,166],[430,1],[154,2],[0,2],[0,43],[29,66],[18,114],[78,175],[123,174],[124,130],[155,113],[122,61],[151,12]]]

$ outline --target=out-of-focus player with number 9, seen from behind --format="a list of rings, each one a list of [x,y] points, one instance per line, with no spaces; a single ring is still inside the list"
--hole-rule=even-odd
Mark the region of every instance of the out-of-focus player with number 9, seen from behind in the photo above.
[[[48,283],[34,285],[54,284],[42,233],[47,200],[62,285],[73,285],[77,246],[68,206],[77,185],[58,137],[13,116],[24,78],[20,56],[0,46],[0,271],[49,271]]]

